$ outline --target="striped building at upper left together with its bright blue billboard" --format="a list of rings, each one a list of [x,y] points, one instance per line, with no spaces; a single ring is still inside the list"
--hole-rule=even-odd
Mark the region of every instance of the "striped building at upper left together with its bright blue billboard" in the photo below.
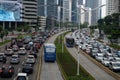
[[[0,21],[8,21],[9,25],[13,22],[27,22],[33,27],[37,25],[37,0],[0,0],[1,11],[4,13],[0,13]]]

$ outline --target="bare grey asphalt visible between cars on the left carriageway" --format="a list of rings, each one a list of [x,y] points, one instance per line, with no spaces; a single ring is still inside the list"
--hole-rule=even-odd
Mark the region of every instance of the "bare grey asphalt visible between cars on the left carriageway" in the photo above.
[[[4,51],[4,46],[1,46],[0,48],[1,48],[0,52],[3,52]],[[27,51],[26,55],[20,55],[20,63],[19,64],[10,64],[11,56],[7,56],[7,61],[6,61],[5,64],[0,62],[0,67],[2,67],[2,65],[12,65],[12,66],[14,66],[14,71],[15,71],[14,75],[12,76],[12,78],[1,78],[0,77],[0,80],[15,80],[15,77],[17,76],[17,74],[19,72],[22,72],[23,64],[26,61],[28,53],[29,53],[29,51]],[[40,51],[37,54],[39,56],[40,55]],[[39,58],[36,59],[36,63],[34,64],[34,71],[33,71],[33,73],[28,75],[28,79],[29,80],[36,80],[36,75],[37,75],[37,72],[38,72],[38,68],[37,68],[38,67],[38,59]]]

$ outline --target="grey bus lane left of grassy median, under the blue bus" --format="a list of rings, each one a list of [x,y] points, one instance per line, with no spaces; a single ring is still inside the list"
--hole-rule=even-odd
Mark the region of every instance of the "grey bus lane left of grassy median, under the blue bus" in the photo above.
[[[59,33],[60,34],[60,33]],[[54,43],[55,38],[59,35],[56,34],[51,37],[48,42]],[[45,62],[42,55],[42,67],[40,80],[63,80],[62,75],[59,71],[57,62]]]

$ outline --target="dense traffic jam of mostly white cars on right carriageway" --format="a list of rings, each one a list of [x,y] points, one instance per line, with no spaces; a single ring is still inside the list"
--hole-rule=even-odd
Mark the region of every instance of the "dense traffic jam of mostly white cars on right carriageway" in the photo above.
[[[96,38],[90,36],[88,29],[75,31],[72,36],[74,37],[75,44],[84,51],[86,54],[108,67],[113,72],[120,72],[120,51],[99,42]]]

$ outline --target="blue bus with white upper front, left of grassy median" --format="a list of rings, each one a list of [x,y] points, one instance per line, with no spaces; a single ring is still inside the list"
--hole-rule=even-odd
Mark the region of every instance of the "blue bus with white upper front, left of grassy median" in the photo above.
[[[55,61],[56,60],[56,46],[53,43],[44,44],[44,61]]]

